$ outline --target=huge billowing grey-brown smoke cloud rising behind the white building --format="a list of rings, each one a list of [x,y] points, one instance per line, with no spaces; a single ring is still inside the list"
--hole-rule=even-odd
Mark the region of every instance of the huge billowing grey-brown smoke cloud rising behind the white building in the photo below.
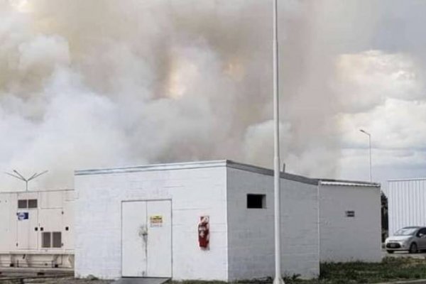
[[[0,0],[1,170],[50,170],[33,187],[58,188],[80,168],[271,167],[270,2]],[[294,173],[338,175],[338,118],[353,111],[339,56],[371,49],[378,21],[378,1],[342,3],[280,1],[281,155]]]

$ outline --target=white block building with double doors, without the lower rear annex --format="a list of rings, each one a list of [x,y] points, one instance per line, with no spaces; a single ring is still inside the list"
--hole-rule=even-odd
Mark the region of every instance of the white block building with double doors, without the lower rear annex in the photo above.
[[[274,273],[273,171],[229,160],[76,172],[75,274],[235,280]],[[319,274],[317,180],[283,173],[282,269]],[[254,208],[248,208],[254,207]],[[209,249],[200,248],[209,217]]]

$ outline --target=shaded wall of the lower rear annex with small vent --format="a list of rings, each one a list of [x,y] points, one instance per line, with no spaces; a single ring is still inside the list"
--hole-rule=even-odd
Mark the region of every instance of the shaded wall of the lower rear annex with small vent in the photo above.
[[[381,261],[379,187],[320,185],[320,260]]]

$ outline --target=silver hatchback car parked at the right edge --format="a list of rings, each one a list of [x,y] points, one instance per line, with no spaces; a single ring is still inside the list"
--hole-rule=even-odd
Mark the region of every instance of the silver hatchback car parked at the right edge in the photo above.
[[[388,253],[394,251],[417,253],[417,251],[426,249],[426,227],[405,226],[386,239],[385,247]]]

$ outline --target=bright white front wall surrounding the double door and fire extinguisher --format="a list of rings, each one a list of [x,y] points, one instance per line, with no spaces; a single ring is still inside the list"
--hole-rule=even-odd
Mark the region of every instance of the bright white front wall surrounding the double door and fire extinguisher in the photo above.
[[[222,163],[224,165],[224,163]],[[121,277],[121,201],[172,200],[173,278],[227,280],[226,168],[78,175],[75,274]],[[198,246],[210,217],[210,250]]]

